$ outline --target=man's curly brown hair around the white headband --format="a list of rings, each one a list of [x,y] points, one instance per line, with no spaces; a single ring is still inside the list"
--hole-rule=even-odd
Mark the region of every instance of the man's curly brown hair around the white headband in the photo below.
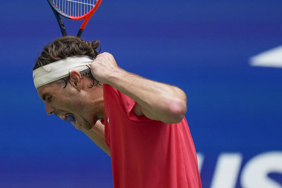
[[[96,49],[99,46],[100,49],[97,51]],[[63,36],[55,39],[53,42],[51,41],[43,47],[41,56],[39,56],[36,60],[33,70],[70,56],[89,56],[94,60],[100,51],[100,41],[85,41],[75,36]],[[98,84],[101,85],[92,75],[90,67],[86,70],[80,71],[79,73],[81,74],[82,79],[84,76],[92,78],[93,82],[88,83],[88,87],[91,88]],[[69,82],[69,78],[70,76],[68,75],[54,82],[63,84],[65,88]]]

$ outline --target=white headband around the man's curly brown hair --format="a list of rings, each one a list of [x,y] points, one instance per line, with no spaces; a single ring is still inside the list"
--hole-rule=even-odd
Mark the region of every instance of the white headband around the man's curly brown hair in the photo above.
[[[36,89],[69,75],[72,70],[78,72],[88,69],[92,59],[88,56],[71,56],[33,70],[33,82]]]

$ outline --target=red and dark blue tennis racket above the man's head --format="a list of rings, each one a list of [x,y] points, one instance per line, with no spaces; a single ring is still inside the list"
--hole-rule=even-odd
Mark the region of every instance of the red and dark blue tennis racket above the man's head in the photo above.
[[[79,28],[77,37],[81,36],[83,29],[87,22],[98,9],[102,0],[47,0],[50,4],[58,24],[60,26],[63,36],[67,36],[66,28],[64,26],[61,16],[70,20],[82,20],[82,25]]]

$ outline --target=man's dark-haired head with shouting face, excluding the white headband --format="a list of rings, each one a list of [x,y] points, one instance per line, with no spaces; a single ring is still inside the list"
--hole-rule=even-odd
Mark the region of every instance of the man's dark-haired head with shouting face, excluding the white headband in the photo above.
[[[89,56],[94,60],[98,55],[98,46],[99,41],[89,42],[73,36],[57,38],[44,47],[33,70],[72,56]],[[54,66],[54,63],[52,65]],[[39,86],[37,91],[45,103],[47,114],[55,113],[63,120],[73,114],[75,121],[72,124],[90,129],[98,119],[103,118],[103,88],[91,74],[90,68],[85,68],[82,71],[69,70],[69,74],[64,78],[46,82],[47,84]],[[96,85],[98,86],[93,87]]]

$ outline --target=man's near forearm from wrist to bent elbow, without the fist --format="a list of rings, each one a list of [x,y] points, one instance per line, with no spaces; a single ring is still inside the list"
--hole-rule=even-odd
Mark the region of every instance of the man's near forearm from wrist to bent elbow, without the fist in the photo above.
[[[183,119],[187,107],[186,95],[181,89],[125,70],[112,74],[111,77],[110,85],[134,99],[159,120],[170,124]]]

